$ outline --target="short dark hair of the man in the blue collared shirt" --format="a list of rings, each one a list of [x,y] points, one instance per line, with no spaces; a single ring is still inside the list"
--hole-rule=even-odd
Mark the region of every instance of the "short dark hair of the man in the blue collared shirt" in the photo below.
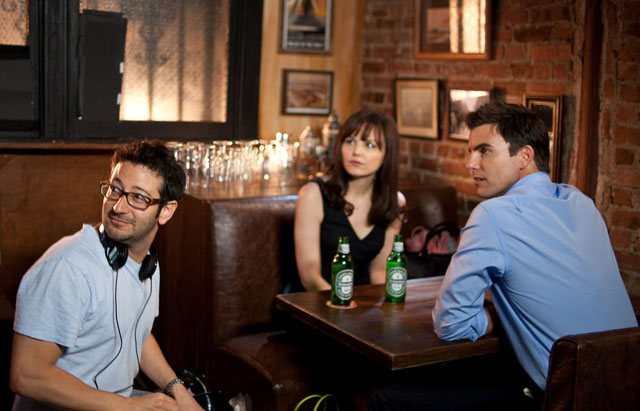
[[[469,129],[492,124],[509,143],[509,154],[515,155],[526,145],[533,147],[538,170],[549,172],[549,132],[544,121],[533,111],[517,104],[493,101],[467,116]]]

